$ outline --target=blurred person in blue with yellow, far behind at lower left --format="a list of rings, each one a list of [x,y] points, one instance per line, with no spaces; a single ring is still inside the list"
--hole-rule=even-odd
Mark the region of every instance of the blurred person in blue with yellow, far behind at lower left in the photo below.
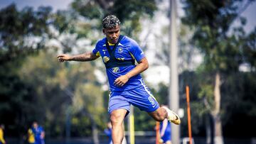
[[[45,131],[43,130],[42,126],[38,126],[38,123],[36,121],[33,122],[32,128],[31,128],[33,135],[35,137],[35,144],[44,144],[44,138],[45,138]]]

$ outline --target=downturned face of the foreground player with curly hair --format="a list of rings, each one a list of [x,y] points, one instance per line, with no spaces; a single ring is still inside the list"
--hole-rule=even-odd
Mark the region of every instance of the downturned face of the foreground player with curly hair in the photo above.
[[[117,43],[120,35],[120,26],[115,26],[114,28],[103,28],[102,31],[106,35],[109,43]]]

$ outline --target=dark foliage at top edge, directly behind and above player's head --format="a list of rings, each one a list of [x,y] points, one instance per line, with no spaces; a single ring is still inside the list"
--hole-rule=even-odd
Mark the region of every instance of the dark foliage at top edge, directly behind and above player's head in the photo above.
[[[80,16],[85,20],[95,20],[96,26],[93,28],[101,29],[102,18],[108,14],[116,15],[122,23],[122,31],[126,35],[136,35],[142,30],[140,26],[140,18],[145,16],[153,16],[156,11],[156,1],[82,1],[75,0],[72,8],[78,11]],[[95,25],[95,23],[94,23]]]

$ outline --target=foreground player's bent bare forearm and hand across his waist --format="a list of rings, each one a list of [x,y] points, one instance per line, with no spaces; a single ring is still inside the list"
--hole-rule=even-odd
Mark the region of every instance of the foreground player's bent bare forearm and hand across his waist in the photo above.
[[[133,70],[131,70],[127,74],[122,75],[121,77],[118,77],[117,79],[115,79],[114,84],[119,87],[122,87],[124,84],[126,84],[128,82],[129,78],[134,77],[135,75],[144,72],[147,68],[149,68],[149,62],[146,60],[146,57],[144,57],[139,62],[139,64],[136,67],[134,67]]]

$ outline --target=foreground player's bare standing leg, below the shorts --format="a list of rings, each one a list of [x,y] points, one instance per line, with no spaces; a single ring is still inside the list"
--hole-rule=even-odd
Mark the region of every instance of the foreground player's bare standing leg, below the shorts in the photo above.
[[[117,109],[110,113],[110,121],[112,124],[112,140],[113,144],[121,144],[124,138],[124,129],[122,127],[126,109]]]

